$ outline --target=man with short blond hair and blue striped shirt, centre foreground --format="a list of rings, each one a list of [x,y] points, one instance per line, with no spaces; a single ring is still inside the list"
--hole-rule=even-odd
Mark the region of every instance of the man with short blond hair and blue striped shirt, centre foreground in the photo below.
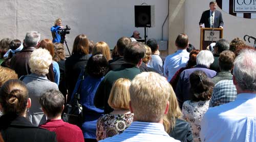
[[[131,126],[101,141],[179,141],[170,137],[163,127],[171,91],[166,78],[158,73],[142,72],[133,79],[129,91],[130,110],[134,113]]]

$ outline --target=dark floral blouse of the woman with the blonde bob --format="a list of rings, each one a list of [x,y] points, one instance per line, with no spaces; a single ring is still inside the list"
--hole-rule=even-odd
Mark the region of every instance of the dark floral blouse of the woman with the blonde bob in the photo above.
[[[124,115],[113,115],[111,113],[103,115],[98,119],[96,137],[97,140],[112,137],[122,133],[133,122],[133,113]]]

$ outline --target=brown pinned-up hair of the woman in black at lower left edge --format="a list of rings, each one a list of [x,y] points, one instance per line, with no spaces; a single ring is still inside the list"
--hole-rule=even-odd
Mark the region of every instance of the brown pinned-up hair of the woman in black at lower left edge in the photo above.
[[[6,81],[0,89],[0,94],[4,114],[13,113],[22,116],[26,112],[29,92],[22,81],[18,79]]]

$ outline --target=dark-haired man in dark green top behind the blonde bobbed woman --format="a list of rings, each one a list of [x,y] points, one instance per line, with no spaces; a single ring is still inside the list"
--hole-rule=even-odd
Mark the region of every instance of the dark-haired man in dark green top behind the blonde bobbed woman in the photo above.
[[[108,72],[100,82],[94,97],[94,105],[98,108],[104,108],[104,114],[113,111],[108,104],[108,99],[114,82],[119,78],[132,80],[137,74],[140,74],[139,67],[144,55],[144,45],[139,42],[132,42],[124,50],[123,59],[125,64],[122,64],[119,69]]]

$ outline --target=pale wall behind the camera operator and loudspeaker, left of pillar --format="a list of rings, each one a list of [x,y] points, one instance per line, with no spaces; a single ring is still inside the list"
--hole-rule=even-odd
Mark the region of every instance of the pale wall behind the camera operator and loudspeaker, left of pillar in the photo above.
[[[161,38],[161,27],[168,14],[168,0],[1,0],[0,39],[23,40],[27,31],[38,31],[41,39],[52,39],[50,27],[61,17],[62,24],[71,27],[67,41],[72,49],[79,34],[95,42],[105,41],[111,48],[122,36],[130,37],[134,30],[144,35],[144,28],[134,27],[134,5],[155,5],[156,26],[148,29],[148,38]],[[168,20],[164,26],[168,39]]]

